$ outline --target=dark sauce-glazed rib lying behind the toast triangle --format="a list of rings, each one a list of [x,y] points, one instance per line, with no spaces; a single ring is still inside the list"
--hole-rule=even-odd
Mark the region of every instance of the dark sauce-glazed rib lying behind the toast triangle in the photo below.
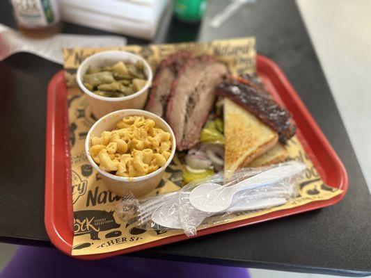
[[[291,113],[255,86],[237,80],[223,81],[217,86],[216,95],[229,97],[258,117],[278,133],[280,142],[285,143],[294,136],[297,127],[291,121]]]

